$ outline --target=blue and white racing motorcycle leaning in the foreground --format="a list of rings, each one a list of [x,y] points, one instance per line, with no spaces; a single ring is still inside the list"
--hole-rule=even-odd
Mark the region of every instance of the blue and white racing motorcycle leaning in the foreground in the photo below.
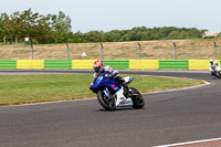
[[[145,105],[141,94],[128,84],[134,77],[124,77],[125,82],[119,84],[112,77],[102,73],[90,85],[90,90],[97,94],[99,104],[107,111],[115,111],[117,107],[143,108]]]

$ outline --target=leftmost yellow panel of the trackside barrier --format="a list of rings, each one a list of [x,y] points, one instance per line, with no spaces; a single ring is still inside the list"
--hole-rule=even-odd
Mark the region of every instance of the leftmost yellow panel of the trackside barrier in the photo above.
[[[44,60],[17,60],[17,69],[44,69]]]

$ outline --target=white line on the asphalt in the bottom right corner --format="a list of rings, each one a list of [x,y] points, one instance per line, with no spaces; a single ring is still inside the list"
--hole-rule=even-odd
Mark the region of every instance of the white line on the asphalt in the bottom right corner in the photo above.
[[[175,146],[200,144],[200,143],[215,141],[215,140],[221,140],[221,138],[212,138],[212,139],[204,139],[204,140],[186,141],[186,143],[178,143],[178,144],[171,144],[171,145],[161,145],[161,146],[155,146],[155,147],[175,147]]]

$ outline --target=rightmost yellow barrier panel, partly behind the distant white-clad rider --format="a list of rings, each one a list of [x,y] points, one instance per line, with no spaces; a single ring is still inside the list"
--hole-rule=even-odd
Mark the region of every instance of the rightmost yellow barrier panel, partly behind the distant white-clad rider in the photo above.
[[[220,63],[220,60],[214,60]],[[189,60],[189,70],[209,70],[210,60]]]

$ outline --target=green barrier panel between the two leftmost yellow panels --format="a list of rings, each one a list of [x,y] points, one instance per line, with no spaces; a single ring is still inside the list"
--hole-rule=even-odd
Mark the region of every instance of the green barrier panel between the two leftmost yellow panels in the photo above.
[[[72,69],[72,60],[44,60],[44,69]]]

